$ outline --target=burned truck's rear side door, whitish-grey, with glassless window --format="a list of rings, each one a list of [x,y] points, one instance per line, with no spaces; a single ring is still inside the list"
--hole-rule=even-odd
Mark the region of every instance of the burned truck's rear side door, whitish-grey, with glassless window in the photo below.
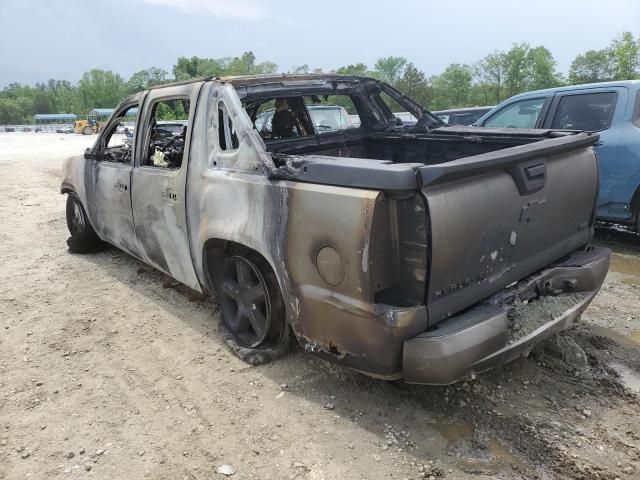
[[[202,82],[151,90],[140,117],[131,195],[147,262],[200,290],[189,248],[185,188],[191,125]]]

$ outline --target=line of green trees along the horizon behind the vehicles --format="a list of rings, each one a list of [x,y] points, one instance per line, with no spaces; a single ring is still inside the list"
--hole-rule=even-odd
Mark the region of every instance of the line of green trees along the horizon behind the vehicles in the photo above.
[[[427,76],[405,57],[379,58],[373,67],[355,63],[336,68],[340,74],[379,78],[431,110],[495,105],[518,93],[560,85],[640,78],[640,37],[623,32],[600,50],[578,55],[566,76],[556,69],[549,49],[514,43],[509,50],[495,51],[474,64],[452,63],[439,75]],[[33,122],[36,113],[75,113],[92,108],[115,107],[126,95],[154,85],[200,76],[275,73],[278,66],[257,62],[252,52],[239,57],[179,57],[172,72],[151,67],[125,80],[118,73],[93,69],[77,83],[51,79],[47,83],[12,83],[0,91],[0,124]],[[322,73],[309,65],[291,73]]]

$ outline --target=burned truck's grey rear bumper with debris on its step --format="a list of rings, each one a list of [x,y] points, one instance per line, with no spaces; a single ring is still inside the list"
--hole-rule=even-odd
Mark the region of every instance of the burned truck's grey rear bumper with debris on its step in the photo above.
[[[562,263],[537,272],[438,328],[404,342],[408,383],[448,385],[527,355],[531,348],[577,321],[602,286],[611,252],[574,252]],[[536,298],[540,300],[526,302]],[[530,320],[514,326],[514,301]],[[545,311],[545,301],[554,305]],[[558,306],[563,306],[558,309]],[[566,308],[565,308],[566,307]]]

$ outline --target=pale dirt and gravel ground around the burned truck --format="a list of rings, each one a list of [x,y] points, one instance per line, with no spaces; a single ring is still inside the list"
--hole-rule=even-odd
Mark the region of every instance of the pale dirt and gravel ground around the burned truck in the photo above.
[[[300,349],[250,367],[216,306],[110,248],[72,255],[62,160],[95,137],[0,134],[0,478],[640,478],[640,237],[565,337],[448,388]]]

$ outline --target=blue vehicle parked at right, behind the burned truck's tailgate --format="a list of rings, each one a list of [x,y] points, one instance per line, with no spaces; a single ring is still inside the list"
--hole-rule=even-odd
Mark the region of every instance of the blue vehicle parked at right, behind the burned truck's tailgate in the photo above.
[[[640,232],[640,80],[523,93],[502,102],[476,125],[598,132],[596,216]]]

